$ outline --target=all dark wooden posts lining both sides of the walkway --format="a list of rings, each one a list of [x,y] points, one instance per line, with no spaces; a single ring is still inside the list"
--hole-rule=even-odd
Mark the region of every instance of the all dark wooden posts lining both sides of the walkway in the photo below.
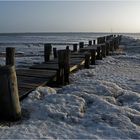
[[[95,40],[89,40],[88,46],[92,47],[87,53],[85,53],[85,68],[89,68],[89,65],[95,65],[96,60],[101,60],[102,57],[106,57],[119,47],[121,36],[114,37],[113,35],[97,38]],[[97,48],[94,48],[94,45]],[[82,52],[84,48],[84,42],[79,43],[79,51]],[[73,44],[73,52],[78,51],[78,44]],[[50,61],[50,54],[52,51],[51,44],[44,45],[44,63]],[[59,70],[57,73],[58,84],[69,83],[69,46],[66,50],[58,50],[53,48],[54,58],[58,58]],[[21,107],[19,102],[18,84],[15,70],[15,48],[6,48],[6,66],[0,66],[0,119],[4,120],[18,120],[21,118]]]

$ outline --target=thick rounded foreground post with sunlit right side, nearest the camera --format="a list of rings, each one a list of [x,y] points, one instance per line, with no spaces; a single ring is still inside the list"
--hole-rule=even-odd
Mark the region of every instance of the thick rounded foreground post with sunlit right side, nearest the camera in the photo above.
[[[0,118],[17,121],[21,118],[15,66],[0,67]]]

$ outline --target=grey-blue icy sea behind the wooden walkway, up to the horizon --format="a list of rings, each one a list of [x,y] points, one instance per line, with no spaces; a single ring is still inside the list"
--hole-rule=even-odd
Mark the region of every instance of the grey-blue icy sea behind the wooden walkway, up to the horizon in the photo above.
[[[7,47],[14,47],[16,54],[22,58],[16,57],[18,66],[44,61],[44,44],[51,43],[57,50],[64,49],[68,45],[72,50],[73,43],[83,41],[85,44],[89,40],[96,40],[98,37],[110,34],[119,34],[134,39],[140,39],[140,33],[94,33],[94,32],[77,32],[77,33],[1,33],[0,34],[0,65],[5,64],[4,56]],[[24,56],[24,57],[23,57]],[[28,57],[28,58],[27,58]]]

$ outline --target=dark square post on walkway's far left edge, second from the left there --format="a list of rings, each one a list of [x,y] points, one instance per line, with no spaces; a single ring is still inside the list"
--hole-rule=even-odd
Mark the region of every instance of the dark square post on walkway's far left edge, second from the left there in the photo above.
[[[48,62],[50,60],[50,55],[52,51],[51,44],[44,44],[44,61]]]

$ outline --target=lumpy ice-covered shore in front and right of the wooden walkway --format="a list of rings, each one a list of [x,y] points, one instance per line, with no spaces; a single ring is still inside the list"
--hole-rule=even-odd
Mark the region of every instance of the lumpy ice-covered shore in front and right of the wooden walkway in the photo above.
[[[121,44],[125,55],[79,70],[70,85],[33,91],[22,121],[1,126],[0,138],[140,139],[140,41]]]

